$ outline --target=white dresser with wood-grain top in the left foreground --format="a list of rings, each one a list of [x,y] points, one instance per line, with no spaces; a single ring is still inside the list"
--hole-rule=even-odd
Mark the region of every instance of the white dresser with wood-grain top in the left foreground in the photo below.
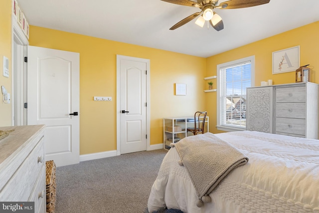
[[[45,126],[0,130],[14,130],[0,140],[0,201],[34,202],[34,212],[45,213]]]

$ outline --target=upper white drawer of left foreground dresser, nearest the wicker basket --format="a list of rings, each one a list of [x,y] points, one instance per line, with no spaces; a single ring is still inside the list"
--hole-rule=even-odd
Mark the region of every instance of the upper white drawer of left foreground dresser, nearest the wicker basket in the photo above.
[[[42,166],[45,165],[43,137],[40,139],[40,141],[31,151],[27,159],[29,162],[29,173],[28,173],[29,174],[28,177],[30,177],[29,186],[30,186],[30,189],[32,189],[37,179],[37,176],[38,176],[37,174],[39,174]]]

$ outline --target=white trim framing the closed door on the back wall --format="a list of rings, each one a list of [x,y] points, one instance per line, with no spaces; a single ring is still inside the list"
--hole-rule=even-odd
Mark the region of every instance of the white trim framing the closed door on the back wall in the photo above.
[[[151,128],[150,128],[150,122],[151,122],[151,99],[150,99],[150,59],[145,58],[137,58],[137,57],[131,57],[131,56],[125,56],[125,55],[116,55],[116,151],[117,155],[121,155],[121,105],[120,105],[120,62],[121,59],[127,59],[127,60],[134,60],[134,61],[140,61],[145,62],[147,65],[147,75],[146,75],[146,132],[147,132],[147,139],[146,139],[146,150],[150,150],[150,138],[151,138]]]

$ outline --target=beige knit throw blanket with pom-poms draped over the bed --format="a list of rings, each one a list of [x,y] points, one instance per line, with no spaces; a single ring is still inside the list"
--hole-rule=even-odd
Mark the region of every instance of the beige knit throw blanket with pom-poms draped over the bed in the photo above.
[[[228,173],[248,162],[238,149],[212,133],[183,138],[174,146],[196,190],[198,207],[211,201],[208,195]]]

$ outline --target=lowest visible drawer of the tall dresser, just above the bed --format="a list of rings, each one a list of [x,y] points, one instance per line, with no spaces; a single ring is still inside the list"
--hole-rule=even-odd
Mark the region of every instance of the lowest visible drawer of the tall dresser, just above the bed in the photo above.
[[[306,135],[306,119],[276,118],[277,132]]]

